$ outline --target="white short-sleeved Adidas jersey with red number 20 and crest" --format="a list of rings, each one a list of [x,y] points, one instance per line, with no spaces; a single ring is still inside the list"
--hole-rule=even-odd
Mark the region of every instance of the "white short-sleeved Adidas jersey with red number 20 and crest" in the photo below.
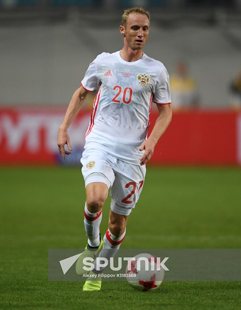
[[[85,149],[103,150],[123,161],[140,164],[147,139],[152,103],[170,104],[169,75],[164,65],[143,54],[137,61],[120,51],[102,53],[90,64],[81,85],[99,87],[85,135]]]

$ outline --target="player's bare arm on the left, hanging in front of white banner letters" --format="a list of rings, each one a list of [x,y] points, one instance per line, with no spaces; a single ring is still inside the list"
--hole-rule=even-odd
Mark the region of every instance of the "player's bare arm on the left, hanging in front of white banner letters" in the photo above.
[[[70,104],[65,113],[64,120],[59,127],[57,144],[59,148],[59,153],[62,155],[63,159],[65,159],[65,154],[66,155],[71,154],[71,152],[65,150],[65,144],[67,144],[67,147],[69,148],[69,150],[72,151],[72,148],[70,145],[70,137],[67,133],[67,129],[69,128],[70,124],[73,122],[76,115],[79,113],[89,93],[90,91],[87,91],[82,86],[78,88],[77,91],[74,92],[74,95],[72,96],[72,99],[70,100]]]

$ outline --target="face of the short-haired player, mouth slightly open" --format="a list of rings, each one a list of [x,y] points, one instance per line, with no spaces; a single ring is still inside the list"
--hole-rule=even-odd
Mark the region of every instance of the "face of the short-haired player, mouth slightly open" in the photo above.
[[[126,26],[123,28],[123,34],[129,47],[135,50],[141,50],[146,44],[150,30],[150,23],[145,14],[131,13],[128,16]]]

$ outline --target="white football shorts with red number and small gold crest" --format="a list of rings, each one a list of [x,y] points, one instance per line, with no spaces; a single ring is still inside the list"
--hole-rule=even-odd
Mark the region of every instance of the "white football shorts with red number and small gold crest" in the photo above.
[[[146,165],[133,165],[92,148],[85,149],[81,163],[85,187],[93,182],[105,183],[111,188],[111,210],[129,215],[140,197]]]

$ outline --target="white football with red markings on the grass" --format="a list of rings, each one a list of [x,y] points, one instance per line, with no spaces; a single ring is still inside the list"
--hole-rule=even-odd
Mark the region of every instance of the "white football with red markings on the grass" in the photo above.
[[[138,258],[146,258],[148,263],[143,259],[137,264]],[[157,266],[157,258],[154,255],[147,253],[138,254],[134,260],[131,260],[130,267],[129,269],[131,270],[128,270],[127,264],[127,281],[136,290],[155,290],[163,281],[164,269],[161,266]]]

